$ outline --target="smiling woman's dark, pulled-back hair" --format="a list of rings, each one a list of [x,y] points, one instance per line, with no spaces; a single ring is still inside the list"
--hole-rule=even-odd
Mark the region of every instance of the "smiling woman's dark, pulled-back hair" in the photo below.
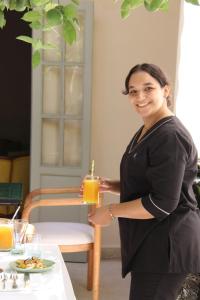
[[[130,71],[125,79],[125,90],[122,92],[124,95],[128,95],[128,93],[129,93],[129,81],[130,81],[131,76],[134,73],[137,73],[140,71],[146,72],[150,76],[152,76],[155,80],[157,80],[157,82],[160,84],[161,87],[164,87],[165,85],[169,85],[169,81],[167,80],[167,77],[165,76],[163,71],[158,66],[156,66],[154,64],[147,64],[147,63],[138,64],[130,69]],[[166,100],[167,100],[167,105],[168,106],[171,105],[170,96],[168,96]]]

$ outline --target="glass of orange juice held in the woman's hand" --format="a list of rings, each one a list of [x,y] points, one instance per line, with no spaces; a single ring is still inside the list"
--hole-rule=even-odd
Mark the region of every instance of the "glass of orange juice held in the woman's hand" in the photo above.
[[[99,177],[87,175],[83,180],[83,201],[92,204],[99,201]]]

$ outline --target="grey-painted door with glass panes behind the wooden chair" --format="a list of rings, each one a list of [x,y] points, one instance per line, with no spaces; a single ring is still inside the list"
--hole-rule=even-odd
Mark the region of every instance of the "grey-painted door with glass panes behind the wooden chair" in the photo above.
[[[64,1],[62,1],[64,2]],[[67,1],[66,1],[67,3]],[[93,1],[80,4],[78,40],[68,46],[52,34],[34,33],[59,51],[45,50],[32,74],[31,189],[79,186],[90,163]],[[33,221],[87,220],[87,207],[43,208]]]

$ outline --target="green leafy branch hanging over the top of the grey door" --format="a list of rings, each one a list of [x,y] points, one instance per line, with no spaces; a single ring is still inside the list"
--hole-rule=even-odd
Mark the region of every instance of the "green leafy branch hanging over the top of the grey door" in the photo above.
[[[71,0],[67,5],[60,5],[53,0],[0,0],[0,28],[6,25],[5,11],[23,12],[22,20],[34,30],[52,31],[60,26],[65,42],[71,45],[76,41],[79,0]],[[29,43],[33,48],[32,65],[36,67],[41,61],[41,50],[54,49],[55,45],[43,43],[40,39],[18,36],[18,40]]]

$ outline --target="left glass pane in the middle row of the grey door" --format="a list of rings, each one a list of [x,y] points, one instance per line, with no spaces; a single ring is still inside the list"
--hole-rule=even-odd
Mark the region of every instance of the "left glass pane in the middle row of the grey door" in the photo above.
[[[43,113],[58,113],[61,71],[58,67],[43,68]]]

